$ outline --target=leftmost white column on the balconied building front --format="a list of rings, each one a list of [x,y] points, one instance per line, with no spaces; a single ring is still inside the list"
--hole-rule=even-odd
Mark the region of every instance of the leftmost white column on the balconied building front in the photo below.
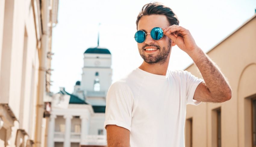
[[[48,147],[54,147],[54,133],[55,133],[55,114],[51,114],[49,128],[48,128]]]

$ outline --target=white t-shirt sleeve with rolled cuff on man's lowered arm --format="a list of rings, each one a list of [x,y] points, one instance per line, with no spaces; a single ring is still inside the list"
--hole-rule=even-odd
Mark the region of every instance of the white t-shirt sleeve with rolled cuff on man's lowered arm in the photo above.
[[[131,131],[132,109],[134,106],[133,93],[128,85],[115,82],[108,90],[106,97],[106,125],[117,125]]]

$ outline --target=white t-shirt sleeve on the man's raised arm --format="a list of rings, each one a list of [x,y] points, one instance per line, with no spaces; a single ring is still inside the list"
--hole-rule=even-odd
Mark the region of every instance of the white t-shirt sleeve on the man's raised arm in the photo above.
[[[195,94],[195,89],[204,80],[201,78],[195,77],[188,71],[185,71],[185,73],[187,75],[187,86],[186,86],[187,104],[198,105],[201,103],[201,101],[196,101],[193,99],[193,97]]]

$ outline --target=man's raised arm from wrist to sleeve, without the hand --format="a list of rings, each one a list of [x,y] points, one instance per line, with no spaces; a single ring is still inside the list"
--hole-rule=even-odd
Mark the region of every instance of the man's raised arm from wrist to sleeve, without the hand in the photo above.
[[[231,88],[217,65],[200,49],[188,52],[198,67],[204,82],[195,90],[194,98],[197,101],[224,102],[231,98]]]

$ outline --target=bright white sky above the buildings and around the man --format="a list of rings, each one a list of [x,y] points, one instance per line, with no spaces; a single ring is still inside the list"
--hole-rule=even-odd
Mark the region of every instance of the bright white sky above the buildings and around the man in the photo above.
[[[57,93],[65,87],[72,93],[80,81],[83,53],[97,46],[112,54],[112,82],[138,67],[143,59],[134,40],[136,18],[148,0],[60,0],[58,24],[53,28],[52,86]],[[255,0],[162,0],[178,16],[197,45],[207,52],[255,14]],[[101,23],[100,27],[98,24]],[[185,69],[192,59],[177,46],[172,48],[169,69]]]

